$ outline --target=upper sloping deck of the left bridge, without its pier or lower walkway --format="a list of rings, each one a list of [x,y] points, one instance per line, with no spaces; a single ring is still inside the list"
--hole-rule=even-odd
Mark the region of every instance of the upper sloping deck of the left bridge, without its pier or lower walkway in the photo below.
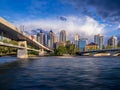
[[[53,51],[48,47],[40,44],[39,42],[32,40],[29,35],[7,22],[3,18],[0,17],[0,33],[3,33],[5,37],[10,38],[15,41],[27,41],[28,45],[34,46],[35,48],[43,48],[47,51]]]

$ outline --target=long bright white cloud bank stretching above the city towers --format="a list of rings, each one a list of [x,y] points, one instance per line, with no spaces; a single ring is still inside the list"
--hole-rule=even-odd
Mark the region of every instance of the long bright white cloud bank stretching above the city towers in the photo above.
[[[62,21],[58,18],[47,18],[47,19],[36,19],[36,20],[26,20],[18,21],[16,25],[24,25],[26,31],[31,31],[33,29],[44,29],[53,30],[53,32],[58,33],[60,30],[66,30],[68,34],[79,33],[81,36],[90,37],[95,34],[104,33],[105,25],[100,24],[93,18],[89,16],[76,17],[68,16],[67,21]]]

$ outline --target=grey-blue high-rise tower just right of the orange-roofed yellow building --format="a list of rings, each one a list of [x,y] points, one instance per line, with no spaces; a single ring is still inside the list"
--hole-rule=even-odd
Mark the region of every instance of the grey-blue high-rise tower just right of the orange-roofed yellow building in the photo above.
[[[101,34],[95,35],[94,36],[94,43],[98,45],[99,49],[103,49],[104,46],[104,36]]]

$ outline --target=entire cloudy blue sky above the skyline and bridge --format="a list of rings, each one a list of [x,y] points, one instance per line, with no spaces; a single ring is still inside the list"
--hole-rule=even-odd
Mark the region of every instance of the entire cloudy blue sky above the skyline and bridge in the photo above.
[[[43,29],[90,39],[120,36],[120,0],[0,0],[0,17],[27,33]]]

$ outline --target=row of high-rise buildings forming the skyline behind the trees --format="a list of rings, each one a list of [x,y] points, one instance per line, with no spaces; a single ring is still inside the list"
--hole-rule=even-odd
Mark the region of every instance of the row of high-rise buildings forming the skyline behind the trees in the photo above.
[[[92,41],[89,38],[81,37],[80,34],[75,34],[73,40],[71,40],[68,38],[67,32],[65,30],[61,30],[59,32],[59,35],[55,34],[52,30],[50,30],[49,32],[45,32],[45,33],[44,33],[44,31],[40,30],[40,32],[38,32],[35,37],[39,38],[39,33],[41,33],[41,32],[45,36],[47,36],[47,38],[45,40],[43,38],[41,38],[42,39],[41,41],[42,42],[47,41],[47,43],[43,44],[43,45],[46,45],[49,48],[56,48],[59,45],[64,46],[67,41],[70,41],[70,43],[74,44],[76,47],[83,48],[83,50],[85,50],[86,46],[89,49],[89,46],[91,47],[92,45],[93,45],[93,47],[91,47],[91,48],[99,48],[100,50],[107,48],[107,47],[117,48],[117,47],[119,47],[119,43],[120,43],[120,41],[117,39],[118,38],[117,36],[113,35],[113,36],[110,36],[107,40],[105,40],[104,36],[102,34],[94,35]],[[33,35],[33,37],[34,37],[34,35]],[[36,39],[36,40],[38,42],[40,42],[38,39]]]

